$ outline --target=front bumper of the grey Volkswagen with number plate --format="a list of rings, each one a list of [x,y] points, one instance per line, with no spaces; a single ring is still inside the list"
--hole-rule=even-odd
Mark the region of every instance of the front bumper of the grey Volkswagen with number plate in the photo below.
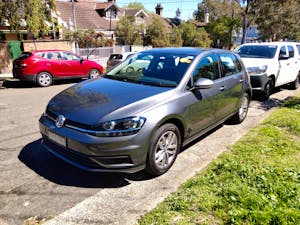
[[[82,170],[134,173],[145,168],[148,143],[138,134],[94,137],[65,126],[57,128],[45,116],[40,118],[39,126],[45,148]]]

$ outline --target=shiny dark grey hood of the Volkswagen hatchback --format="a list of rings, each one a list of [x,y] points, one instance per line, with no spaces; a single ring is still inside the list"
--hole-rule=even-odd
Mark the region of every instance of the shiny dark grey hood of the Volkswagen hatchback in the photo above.
[[[147,86],[106,78],[74,85],[53,97],[47,110],[68,120],[95,124],[139,116],[144,110],[171,97],[174,88]]]

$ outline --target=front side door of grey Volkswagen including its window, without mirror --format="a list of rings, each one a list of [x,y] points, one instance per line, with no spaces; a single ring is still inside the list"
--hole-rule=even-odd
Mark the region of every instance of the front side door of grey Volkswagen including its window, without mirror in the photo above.
[[[192,83],[198,78],[207,78],[215,82],[208,89],[192,89]],[[185,121],[187,121],[188,136],[192,137],[204,131],[216,122],[216,112],[220,106],[223,90],[222,83],[217,80],[220,78],[219,59],[216,54],[203,57],[192,74],[192,79],[187,85],[187,95],[185,103]]]

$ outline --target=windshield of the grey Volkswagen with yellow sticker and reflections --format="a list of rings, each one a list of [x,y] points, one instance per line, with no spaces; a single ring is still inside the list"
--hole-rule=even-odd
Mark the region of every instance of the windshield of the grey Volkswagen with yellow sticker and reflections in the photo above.
[[[194,55],[139,53],[108,71],[104,77],[161,87],[176,87]]]

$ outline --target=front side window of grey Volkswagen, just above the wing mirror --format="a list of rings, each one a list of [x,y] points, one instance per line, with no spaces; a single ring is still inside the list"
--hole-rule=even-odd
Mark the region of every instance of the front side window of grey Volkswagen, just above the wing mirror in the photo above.
[[[218,58],[216,55],[209,55],[201,59],[193,73],[193,82],[198,78],[216,80],[220,77]]]

